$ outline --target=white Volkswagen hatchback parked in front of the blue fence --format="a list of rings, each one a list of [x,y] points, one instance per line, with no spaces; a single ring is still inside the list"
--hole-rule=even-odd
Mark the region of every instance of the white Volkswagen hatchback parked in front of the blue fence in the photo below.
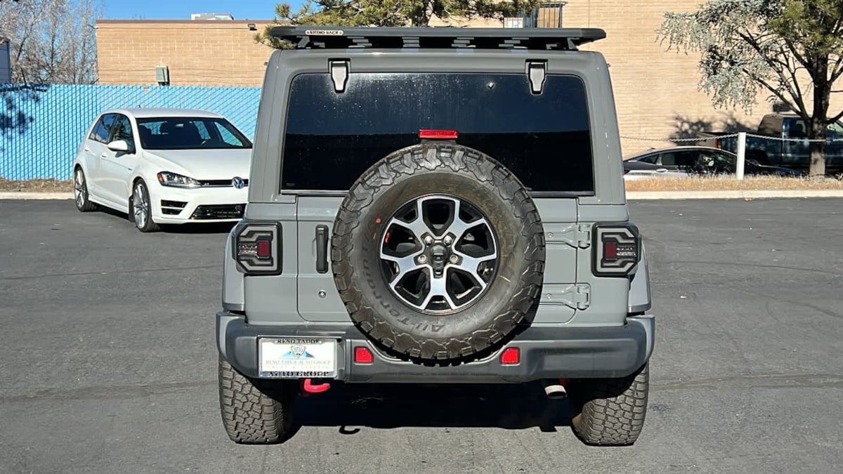
[[[73,160],[76,207],[128,213],[142,232],[236,222],[248,201],[251,148],[231,122],[205,110],[106,110]]]

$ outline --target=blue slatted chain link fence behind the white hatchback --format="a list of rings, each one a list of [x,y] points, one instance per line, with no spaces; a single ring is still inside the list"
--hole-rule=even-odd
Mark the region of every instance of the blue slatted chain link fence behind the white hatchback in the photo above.
[[[68,180],[91,122],[122,107],[201,109],[255,136],[258,87],[0,85],[0,177]]]

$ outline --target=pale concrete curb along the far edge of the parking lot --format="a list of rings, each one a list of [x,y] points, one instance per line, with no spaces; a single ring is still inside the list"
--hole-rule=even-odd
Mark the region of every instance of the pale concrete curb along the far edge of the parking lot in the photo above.
[[[744,190],[744,191],[629,191],[628,201],[656,199],[763,199],[775,197],[843,197],[841,189],[789,189],[789,190]],[[0,192],[2,199],[48,200],[72,199],[72,192]]]

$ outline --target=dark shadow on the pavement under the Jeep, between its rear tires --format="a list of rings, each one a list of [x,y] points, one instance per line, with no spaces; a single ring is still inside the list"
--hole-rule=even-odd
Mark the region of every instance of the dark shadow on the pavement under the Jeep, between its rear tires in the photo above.
[[[566,400],[550,400],[536,383],[516,385],[338,385],[299,398],[299,426],[368,428],[540,428],[569,426]]]

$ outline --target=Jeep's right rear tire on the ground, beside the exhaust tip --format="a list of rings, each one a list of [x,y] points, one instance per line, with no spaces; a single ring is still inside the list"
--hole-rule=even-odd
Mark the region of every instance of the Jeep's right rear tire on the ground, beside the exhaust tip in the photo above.
[[[588,445],[629,446],[641,434],[650,386],[648,364],[620,379],[572,380],[572,428]]]

